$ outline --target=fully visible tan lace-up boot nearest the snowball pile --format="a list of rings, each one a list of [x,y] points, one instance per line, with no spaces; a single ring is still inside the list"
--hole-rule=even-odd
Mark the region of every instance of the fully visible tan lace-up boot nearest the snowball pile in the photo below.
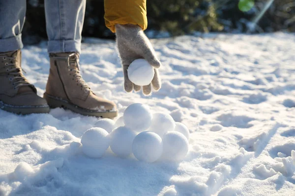
[[[78,53],[50,54],[44,98],[50,107],[63,107],[86,116],[112,119],[118,115],[116,104],[97,97],[83,80]]]

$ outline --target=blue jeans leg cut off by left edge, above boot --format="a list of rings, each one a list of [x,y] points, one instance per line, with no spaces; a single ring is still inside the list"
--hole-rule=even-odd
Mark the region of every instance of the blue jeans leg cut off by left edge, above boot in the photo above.
[[[0,52],[23,48],[26,0],[0,0]]]

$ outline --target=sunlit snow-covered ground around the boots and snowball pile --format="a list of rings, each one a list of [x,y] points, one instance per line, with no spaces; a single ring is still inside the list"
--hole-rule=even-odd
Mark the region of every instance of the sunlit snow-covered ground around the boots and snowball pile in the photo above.
[[[151,97],[123,91],[115,43],[86,39],[81,64],[92,90],[119,115],[135,102],[169,112],[191,132],[181,162],[144,163],[81,152],[97,121],[63,109],[0,111],[0,196],[295,195],[295,35],[182,36],[152,40],[163,67]],[[23,49],[26,76],[42,96],[46,43]]]

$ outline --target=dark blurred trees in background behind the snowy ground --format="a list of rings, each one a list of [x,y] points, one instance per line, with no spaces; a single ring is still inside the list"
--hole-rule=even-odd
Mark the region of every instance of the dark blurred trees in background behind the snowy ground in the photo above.
[[[254,6],[246,12],[240,6],[247,2],[240,1],[247,0],[147,0],[148,31],[164,31],[171,36],[196,31],[295,32],[294,0],[274,0],[257,24],[253,21],[270,0],[251,0]],[[83,36],[113,39],[115,35],[105,27],[103,16],[103,0],[87,0]],[[27,43],[47,37],[44,0],[27,0],[23,37]]]

